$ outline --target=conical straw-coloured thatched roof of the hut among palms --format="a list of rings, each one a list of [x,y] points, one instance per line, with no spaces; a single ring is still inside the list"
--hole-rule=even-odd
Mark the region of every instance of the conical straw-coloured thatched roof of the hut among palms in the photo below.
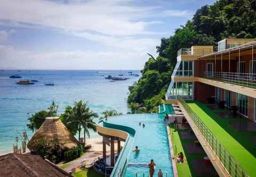
[[[57,144],[61,149],[70,149],[78,144],[76,138],[69,132],[59,117],[45,118],[44,123],[28,142],[28,148],[36,150],[38,142],[42,139],[48,143]]]

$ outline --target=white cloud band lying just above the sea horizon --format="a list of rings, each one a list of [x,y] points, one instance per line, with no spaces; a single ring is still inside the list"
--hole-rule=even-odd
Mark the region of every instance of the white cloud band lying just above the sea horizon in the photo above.
[[[138,41],[142,45],[144,42]],[[147,43],[147,41],[145,41]],[[154,43],[155,46],[155,43]],[[62,51],[41,52],[19,51],[12,46],[0,46],[1,68],[20,69],[142,69],[148,59],[147,52],[119,49],[113,51]],[[145,51],[143,51],[145,49]],[[130,51],[129,51],[130,50]]]

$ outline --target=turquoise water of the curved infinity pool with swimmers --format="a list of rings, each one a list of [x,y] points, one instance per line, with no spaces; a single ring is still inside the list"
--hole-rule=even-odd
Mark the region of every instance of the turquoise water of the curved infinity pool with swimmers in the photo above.
[[[148,176],[150,159],[154,159],[156,164],[154,176],[157,176],[159,168],[164,172],[164,177],[173,176],[169,141],[163,118],[158,118],[157,114],[133,114],[111,117],[107,122],[129,126],[136,131],[133,148],[126,154],[128,160],[123,176]],[[142,124],[145,124],[144,128]],[[135,146],[139,147],[139,154],[132,151]]]

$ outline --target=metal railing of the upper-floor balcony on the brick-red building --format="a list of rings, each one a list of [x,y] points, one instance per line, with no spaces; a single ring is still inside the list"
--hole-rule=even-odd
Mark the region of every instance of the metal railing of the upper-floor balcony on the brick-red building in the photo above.
[[[256,88],[256,74],[205,72],[204,77],[207,79],[212,79],[215,81],[225,82],[229,84]]]

